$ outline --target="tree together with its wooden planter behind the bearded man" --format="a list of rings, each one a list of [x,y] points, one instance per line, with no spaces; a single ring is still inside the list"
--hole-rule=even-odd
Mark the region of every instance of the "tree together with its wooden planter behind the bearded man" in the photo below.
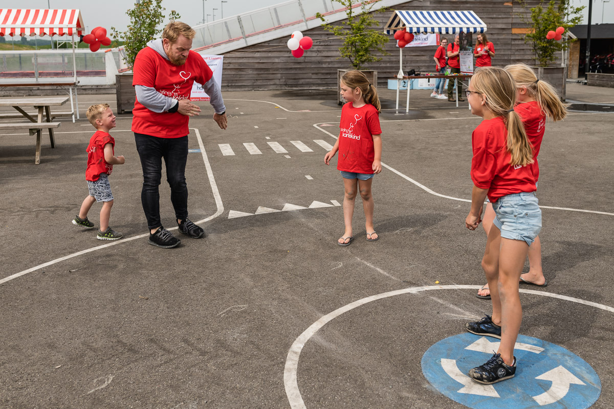
[[[134,4],[134,9],[128,10],[126,14],[130,17],[130,24],[126,31],[117,31],[111,27],[111,36],[114,40],[114,47],[123,41],[123,58],[128,67],[132,68],[136,55],[147,46],[147,42],[155,39],[162,31],[160,27],[164,21],[164,7],[161,6],[162,0],[142,0]],[[170,20],[180,18],[175,10],[169,13]],[[117,112],[124,113],[134,108],[136,101],[136,91],[132,86],[132,73],[118,74],[115,76],[115,94],[117,96]]]

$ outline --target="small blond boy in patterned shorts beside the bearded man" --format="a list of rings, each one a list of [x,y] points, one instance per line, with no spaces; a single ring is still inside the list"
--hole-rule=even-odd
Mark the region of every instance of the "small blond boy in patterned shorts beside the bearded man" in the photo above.
[[[94,202],[103,202],[100,210],[100,229],[96,239],[117,240],[123,234],[109,227],[109,217],[113,206],[113,194],[109,185],[109,175],[113,165],[122,165],[126,161],[123,156],[114,156],[115,139],[109,135],[109,130],[115,128],[115,115],[108,104],[91,105],[87,109],[87,119],[97,129],[90,139],[87,147],[87,169],[85,179],[90,195],[85,197],[79,215],[75,216],[72,224],[91,229],[94,224],[87,218],[91,205]]]

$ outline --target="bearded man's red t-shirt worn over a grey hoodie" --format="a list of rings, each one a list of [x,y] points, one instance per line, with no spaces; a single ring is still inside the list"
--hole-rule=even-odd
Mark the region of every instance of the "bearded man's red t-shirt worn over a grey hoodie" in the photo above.
[[[133,86],[149,86],[174,99],[190,99],[192,84],[204,84],[213,76],[204,59],[192,50],[185,63],[176,66],[150,47],[143,48],[136,55],[133,72]],[[189,118],[179,112],[153,112],[136,101],[132,115],[132,131],[138,134],[179,138],[190,133]]]

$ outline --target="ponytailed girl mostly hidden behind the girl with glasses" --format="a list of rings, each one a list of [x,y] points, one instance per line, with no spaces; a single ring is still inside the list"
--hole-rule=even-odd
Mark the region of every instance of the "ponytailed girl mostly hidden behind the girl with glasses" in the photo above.
[[[549,83],[538,80],[535,72],[526,64],[512,64],[505,67],[505,71],[509,72],[516,82],[516,107],[514,110],[523,118],[524,129],[533,146],[535,162],[532,164],[532,169],[537,184],[539,177],[537,155],[542,146],[546,117],[553,121],[560,121],[567,117],[567,107],[561,102],[554,88]],[[488,203],[482,221],[486,235],[491,229],[494,218],[495,212],[492,210],[492,204]],[[529,272],[520,276],[520,283],[538,287],[548,285],[542,271],[542,243],[539,237],[535,237],[535,242],[529,247]],[[490,299],[490,294],[487,284],[478,291],[477,297]]]

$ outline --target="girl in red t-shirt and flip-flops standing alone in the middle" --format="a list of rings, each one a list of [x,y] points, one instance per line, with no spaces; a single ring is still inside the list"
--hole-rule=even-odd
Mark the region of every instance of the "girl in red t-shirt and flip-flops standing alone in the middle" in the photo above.
[[[373,196],[371,182],[373,175],[381,172],[382,140],[379,127],[378,91],[365,74],[348,71],[341,77],[341,96],[347,101],[341,109],[341,132],[335,146],[324,156],[328,165],[330,159],[339,151],[337,169],[341,171],[345,196],[343,199],[343,220],[345,232],[337,244],[349,246],[354,240],[352,235],[352,216],[357,189],[362,197],[365,212],[367,241],[375,242],[379,235],[373,226]]]

